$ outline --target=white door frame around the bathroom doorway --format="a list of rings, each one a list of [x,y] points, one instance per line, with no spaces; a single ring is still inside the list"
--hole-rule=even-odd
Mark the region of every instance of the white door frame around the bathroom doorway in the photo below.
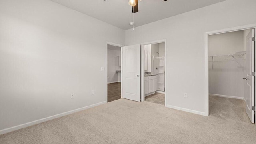
[[[165,71],[165,75],[164,75],[164,88],[165,88],[165,94],[164,94],[164,106],[166,106],[166,102],[167,102],[167,60],[166,60],[166,56],[167,56],[167,51],[166,51],[166,39],[163,40],[156,40],[156,41],[152,41],[152,42],[144,42],[141,44],[141,97],[140,97],[140,101],[144,102],[145,101],[145,95],[144,95],[144,46],[148,45],[148,44],[158,44],[158,43],[162,43],[164,42],[164,71]]]

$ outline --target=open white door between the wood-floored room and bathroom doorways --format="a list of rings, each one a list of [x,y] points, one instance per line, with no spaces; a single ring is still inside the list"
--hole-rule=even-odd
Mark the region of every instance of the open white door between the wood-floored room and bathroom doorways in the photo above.
[[[122,47],[122,96],[140,102],[140,44]]]

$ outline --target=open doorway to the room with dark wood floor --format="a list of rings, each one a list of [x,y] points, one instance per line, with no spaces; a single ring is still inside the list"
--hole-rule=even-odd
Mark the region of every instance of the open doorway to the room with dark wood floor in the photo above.
[[[121,47],[107,44],[107,102],[121,98]]]

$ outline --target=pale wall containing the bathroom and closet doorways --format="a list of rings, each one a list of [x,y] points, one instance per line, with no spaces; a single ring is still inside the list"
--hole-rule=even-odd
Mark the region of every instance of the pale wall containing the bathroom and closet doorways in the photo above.
[[[167,106],[205,115],[205,32],[256,23],[256,0],[226,0],[126,30],[126,45],[167,40]],[[188,98],[183,93],[188,93]]]

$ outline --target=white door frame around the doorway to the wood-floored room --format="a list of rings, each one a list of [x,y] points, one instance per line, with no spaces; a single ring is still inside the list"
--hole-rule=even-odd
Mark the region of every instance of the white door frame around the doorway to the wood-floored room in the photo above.
[[[108,103],[108,44],[112,46],[118,46],[121,48],[121,98],[122,98],[122,44],[116,44],[113,42],[106,42],[106,59],[105,59],[105,88],[106,88],[106,102]]]

